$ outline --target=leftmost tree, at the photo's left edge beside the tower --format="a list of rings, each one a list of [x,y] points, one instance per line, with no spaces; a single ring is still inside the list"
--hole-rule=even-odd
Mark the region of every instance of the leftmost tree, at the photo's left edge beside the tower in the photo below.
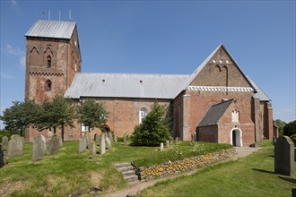
[[[39,109],[40,107],[33,100],[13,101],[13,106],[6,108],[0,119],[6,125],[5,129],[19,131],[22,136],[24,130],[36,121]]]

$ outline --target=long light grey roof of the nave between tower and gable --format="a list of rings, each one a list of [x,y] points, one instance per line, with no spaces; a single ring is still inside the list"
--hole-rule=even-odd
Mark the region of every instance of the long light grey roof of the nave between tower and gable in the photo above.
[[[65,97],[175,99],[189,75],[75,73]]]

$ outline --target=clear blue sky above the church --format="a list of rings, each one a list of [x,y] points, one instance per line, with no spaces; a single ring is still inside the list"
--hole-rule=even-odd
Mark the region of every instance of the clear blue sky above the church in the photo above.
[[[223,43],[272,99],[274,119],[296,119],[295,0],[0,5],[1,112],[24,100],[25,33],[39,19],[50,19],[76,22],[83,73],[190,74]]]

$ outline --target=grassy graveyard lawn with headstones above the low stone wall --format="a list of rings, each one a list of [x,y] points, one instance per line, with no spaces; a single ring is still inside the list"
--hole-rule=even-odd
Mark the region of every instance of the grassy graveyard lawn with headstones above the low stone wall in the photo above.
[[[78,144],[78,141],[64,142],[57,155],[45,155],[36,163],[31,162],[32,145],[25,144],[23,157],[8,158],[8,164],[0,168],[0,196],[80,195],[91,188],[109,193],[127,186],[121,174],[112,167],[114,163],[135,161],[138,166],[150,166],[231,147],[212,143],[192,147],[183,141],[159,151],[158,147],[131,147],[114,142],[112,151],[91,159],[91,150],[77,154]]]

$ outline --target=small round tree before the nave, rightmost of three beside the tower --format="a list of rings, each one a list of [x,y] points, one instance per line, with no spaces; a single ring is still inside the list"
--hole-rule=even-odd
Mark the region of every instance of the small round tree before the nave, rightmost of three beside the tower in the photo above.
[[[78,107],[79,122],[88,126],[89,132],[92,128],[101,128],[107,123],[109,112],[101,103],[97,103],[93,99],[85,100]]]

